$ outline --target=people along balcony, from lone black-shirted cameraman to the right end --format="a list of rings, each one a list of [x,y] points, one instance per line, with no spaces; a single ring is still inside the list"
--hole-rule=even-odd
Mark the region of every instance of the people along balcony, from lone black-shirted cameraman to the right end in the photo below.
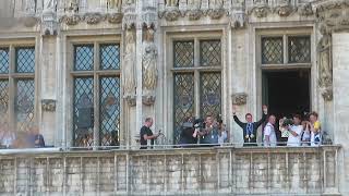
[[[282,118],[278,122],[274,114],[268,115],[268,109],[263,106],[262,119],[253,122],[251,113],[245,114],[245,121],[241,122],[237,115],[237,106],[232,107],[234,122],[242,128],[243,146],[258,146],[257,128],[262,128],[262,145],[275,146],[318,146],[322,143],[321,123],[318,114],[311,112],[305,117],[293,114],[292,119]],[[153,134],[151,127],[153,119],[147,118],[141,128],[141,149],[147,149],[154,145],[154,140],[161,133]],[[205,120],[186,118],[182,124],[178,147],[221,146],[230,144],[230,132],[226,128],[221,119],[207,115]],[[149,140],[149,145],[147,143]]]

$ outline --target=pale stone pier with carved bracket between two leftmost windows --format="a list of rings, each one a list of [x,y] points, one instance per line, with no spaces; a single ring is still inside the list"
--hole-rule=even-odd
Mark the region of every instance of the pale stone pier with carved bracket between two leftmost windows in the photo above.
[[[44,0],[41,13],[40,65],[39,73],[41,115],[40,132],[47,145],[60,146],[62,133],[57,131],[57,0]]]

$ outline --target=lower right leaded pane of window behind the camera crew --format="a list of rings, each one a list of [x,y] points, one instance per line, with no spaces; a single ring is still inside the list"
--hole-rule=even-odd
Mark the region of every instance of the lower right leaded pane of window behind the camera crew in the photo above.
[[[220,73],[202,73],[200,76],[200,113],[201,118],[221,114]]]

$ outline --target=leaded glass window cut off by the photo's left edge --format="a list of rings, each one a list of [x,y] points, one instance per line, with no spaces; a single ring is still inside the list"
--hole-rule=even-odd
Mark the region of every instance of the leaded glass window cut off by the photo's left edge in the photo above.
[[[35,47],[0,47],[0,115],[1,126],[17,133],[34,122]]]

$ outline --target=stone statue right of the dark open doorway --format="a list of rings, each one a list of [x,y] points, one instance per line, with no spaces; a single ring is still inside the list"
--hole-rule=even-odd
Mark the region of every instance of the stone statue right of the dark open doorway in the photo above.
[[[330,86],[332,85],[332,37],[322,27],[321,29],[323,37],[320,39],[317,45],[318,52],[318,85]]]

